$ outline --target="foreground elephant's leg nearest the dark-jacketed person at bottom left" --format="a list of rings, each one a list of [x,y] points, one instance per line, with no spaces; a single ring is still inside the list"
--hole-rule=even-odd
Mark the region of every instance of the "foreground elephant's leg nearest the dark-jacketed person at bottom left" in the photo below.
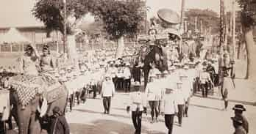
[[[39,115],[38,113],[32,113],[31,114],[31,120],[30,120],[30,127],[29,127],[29,133],[38,133],[40,134],[41,127],[39,122]]]

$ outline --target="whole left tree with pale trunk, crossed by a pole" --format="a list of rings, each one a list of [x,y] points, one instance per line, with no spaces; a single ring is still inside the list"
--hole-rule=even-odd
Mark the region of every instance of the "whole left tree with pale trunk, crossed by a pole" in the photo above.
[[[89,12],[90,6],[95,2],[93,0],[66,0],[67,9],[67,52],[68,58],[77,61],[77,51],[75,43],[75,35],[79,33],[79,26],[82,23],[84,15]],[[46,30],[47,36],[53,30],[58,30],[64,33],[64,3],[63,0],[39,0],[36,2],[32,10],[35,18],[42,21]],[[76,63],[75,63],[76,64]]]

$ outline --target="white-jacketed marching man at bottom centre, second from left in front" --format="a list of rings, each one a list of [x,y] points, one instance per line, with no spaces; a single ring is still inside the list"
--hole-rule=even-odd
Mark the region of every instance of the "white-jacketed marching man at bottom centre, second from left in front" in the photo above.
[[[135,134],[141,134],[142,113],[146,113],[146,96],[140,91],[140,82],[135,81],[135,92],[129,94],[130,103],[127,112],[132,111],[132,123]]]

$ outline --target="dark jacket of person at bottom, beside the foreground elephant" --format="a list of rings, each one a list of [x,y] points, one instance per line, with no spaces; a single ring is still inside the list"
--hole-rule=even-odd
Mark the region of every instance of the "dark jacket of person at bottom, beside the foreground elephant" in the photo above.
[[[65,119],[65,116],[59,116],[52,119],[51,121],[51,131],[50,134],[69,134],[68,122]]]

